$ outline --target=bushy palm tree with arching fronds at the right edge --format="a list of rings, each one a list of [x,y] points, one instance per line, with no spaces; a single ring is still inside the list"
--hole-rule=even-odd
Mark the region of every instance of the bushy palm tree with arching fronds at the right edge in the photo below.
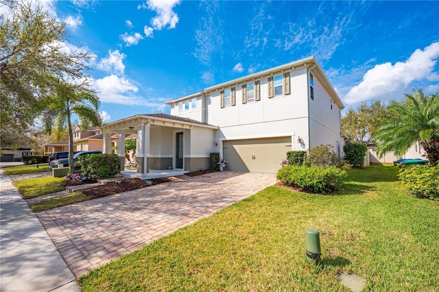
[[[405,101],[392,101],[377,124],[375,142],[381,156],[394,151],[402,156],[413,143],[419,141],[427,152],[430,165],[439,162],[439,92],[425,95],[415,88]]]

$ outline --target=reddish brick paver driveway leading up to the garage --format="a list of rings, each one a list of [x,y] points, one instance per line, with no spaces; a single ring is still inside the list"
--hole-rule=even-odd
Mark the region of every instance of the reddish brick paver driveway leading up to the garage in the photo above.
[[[276,182],[216,172],[37,213],[76,277]]]

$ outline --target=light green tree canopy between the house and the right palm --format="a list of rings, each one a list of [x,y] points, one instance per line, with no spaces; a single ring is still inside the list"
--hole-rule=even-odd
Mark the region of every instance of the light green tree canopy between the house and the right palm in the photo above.
[[[366,143],[367,145],[373,141],[375,124],[379,121],[384,109],[385,106],[380,100],[372,104],[363,102],[357,110],[349,108],[342,117],[342,133],[353,143]]]

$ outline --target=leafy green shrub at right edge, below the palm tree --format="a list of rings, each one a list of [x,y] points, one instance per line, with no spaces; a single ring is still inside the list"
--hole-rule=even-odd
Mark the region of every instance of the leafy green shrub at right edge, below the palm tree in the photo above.
[[[439,201],[439,167],[412,165],[403,167],[399,179],[409,193],[416,197]]]

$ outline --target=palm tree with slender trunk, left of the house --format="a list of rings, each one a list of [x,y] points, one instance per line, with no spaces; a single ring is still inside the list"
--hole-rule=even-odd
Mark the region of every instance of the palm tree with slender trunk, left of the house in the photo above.
[[[48,133],[54,127],[58,132],[61,132],[67,126],[69,132],[69,167],[70,172],[73,173],[75,165],[73,165],[72,114],[78,116],[83,128],[89,125],[99,126],[102,123],[97,112],[100,101],[93,90],[83,84],[63,82],[58,77],[52,77],[52,79],[54,81],[54,94],[47,99],[46,109],[43,110],[43,125]]]

